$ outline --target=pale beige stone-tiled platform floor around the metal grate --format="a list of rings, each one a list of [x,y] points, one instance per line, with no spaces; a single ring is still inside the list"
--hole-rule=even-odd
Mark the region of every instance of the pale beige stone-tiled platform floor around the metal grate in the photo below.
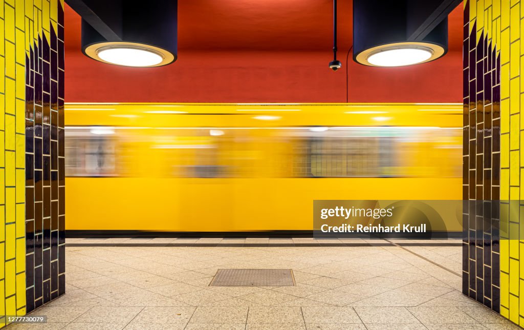
[[[8,328],[518,328],[460,292],[447,245],[69,246],[65,295],[32,313],[48,323]],[[297,285],[208,286],[221,268],[289,268]]]

